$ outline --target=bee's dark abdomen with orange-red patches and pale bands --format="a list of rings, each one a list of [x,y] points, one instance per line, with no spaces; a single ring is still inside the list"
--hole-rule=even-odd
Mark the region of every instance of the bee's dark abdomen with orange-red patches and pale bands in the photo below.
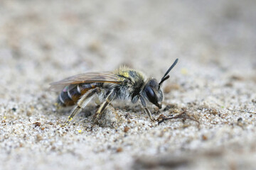
[[[60,106],[73,106],[78,102],[79,98],[90,89],[100,86],[99,83],[87,84],[70,84],[65,86],[58,96],[58,103]]]

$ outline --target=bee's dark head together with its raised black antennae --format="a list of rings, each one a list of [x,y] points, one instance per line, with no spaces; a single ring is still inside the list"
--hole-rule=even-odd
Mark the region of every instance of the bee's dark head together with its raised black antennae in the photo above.
[[[171,67],[167,70],[166,74],[164,74],[164,77],[161,79],[159,83],[157,83],[156,79],[150,79],[143,89],[143,94],[146,97],[146,99],[153,103],[155,106],[161,108],[161,101],[163,101],[163,91],[161,91],[161,84],[166,81],[166,79],[169,79],[169,72],[172,68],[177,64],[178,59],[175,60],[174,64],[171,65]]]

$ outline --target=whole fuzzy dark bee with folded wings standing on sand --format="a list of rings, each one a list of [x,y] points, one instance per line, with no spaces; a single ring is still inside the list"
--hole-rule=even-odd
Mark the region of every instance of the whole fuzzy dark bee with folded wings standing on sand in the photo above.
[[[61,91],[57,100],[58,106],[75,105],[65,125],[68,125],[92,99],[102,102],[95,113],[94,123],[97,123],[105,108],[117,99],[129,100],[132,103],[140,101],[144,112],[152,121],[156,121],[146,107],[146,103],[152,103],[161,109],[161,102],[164,99],[161,84],[169,79],[168,74],[177,62],[178,59],[167,70],[159,83],[154,78],[146,78],[142,72],[135,69],[119,67],[113,72],[87,72],[68,77],[51,83],[50,89]]]

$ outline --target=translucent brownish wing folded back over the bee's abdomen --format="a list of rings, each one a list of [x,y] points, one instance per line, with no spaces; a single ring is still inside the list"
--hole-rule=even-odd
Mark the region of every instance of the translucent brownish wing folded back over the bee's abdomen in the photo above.
[[[68,77],[66,79],[55,81],[50,84],[50,90],[52,91],[62,91],[65,86],[69,84],[81,84],[81,83],[114,83],[119,84],[119,77],[112,72],[87,72],[83,74],[77,74],[73,77]]]

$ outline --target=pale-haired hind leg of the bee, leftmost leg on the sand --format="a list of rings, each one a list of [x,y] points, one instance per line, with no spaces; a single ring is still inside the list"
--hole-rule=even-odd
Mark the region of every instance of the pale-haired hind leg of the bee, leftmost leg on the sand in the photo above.
[[[95,89],[92,89],[92,91],[88,91],[87,93],[85,93],[82,96],[82,98],[79,99],[77,106],[75,106],[71,114],[68,116],[68,121],[65,123],[65,125],[68,125],[70,121],[74,118],[74,116],[80,113],[80,111],[82,111],[82,108],[85,108],[85,106],[87,106],[87,104],[90,101],[92,101],[92,98],[95,96],[95,94],[100,94],[100,93],[102,93],[102,91],[98,87]]]

